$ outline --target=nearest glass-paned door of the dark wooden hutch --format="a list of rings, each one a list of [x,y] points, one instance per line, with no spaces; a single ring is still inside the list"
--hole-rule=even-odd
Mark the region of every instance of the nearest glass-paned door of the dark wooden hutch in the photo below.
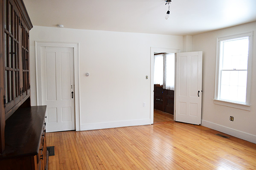
[[[5,112],[21,101],[19,13],[12,0],[4,0]]]

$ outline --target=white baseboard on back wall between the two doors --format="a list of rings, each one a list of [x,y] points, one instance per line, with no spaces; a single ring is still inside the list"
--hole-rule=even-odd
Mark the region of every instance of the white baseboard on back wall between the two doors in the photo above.
[[[138,125],[150,125],[150,119],[82,124],[80,130],[96,130],[96,129],[107,129],[107,128],[113,128],[113,127],[138,126]]]

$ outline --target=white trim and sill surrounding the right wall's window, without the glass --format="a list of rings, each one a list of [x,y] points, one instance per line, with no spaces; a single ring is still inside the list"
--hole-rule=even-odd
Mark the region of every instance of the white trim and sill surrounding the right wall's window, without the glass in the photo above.
[[[249,53],[248,53],[248,63],[247,63],[247,86],[246,86],[246,103],[238,103],[232,101],[225,101],[218,99],[218,87],[219,87],[219,59],[220,59],[220,41],[230,40],[241,37],[249,37]],[[217,52],[216,52],[216,72],[215,72],[215,96],[213,99],[214,104],[224,105],[231,108],[238,108],[242,110],[250,111],[250,92],[251,92],[251,74],[252,74],[252,37],[253,31],[235,34],[230,36],[218,37],[217,38]]]

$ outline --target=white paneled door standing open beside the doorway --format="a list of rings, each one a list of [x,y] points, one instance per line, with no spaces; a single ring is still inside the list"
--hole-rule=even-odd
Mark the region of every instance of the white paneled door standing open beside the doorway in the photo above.
[[[201,124],[202,51],[177,53],[175,121]]]

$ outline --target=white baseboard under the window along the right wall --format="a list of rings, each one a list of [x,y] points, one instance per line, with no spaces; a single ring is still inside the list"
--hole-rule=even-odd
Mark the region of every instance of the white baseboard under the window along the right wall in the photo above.
[[[241,132],[239,130],[235,130],[230,127],[225,127],[225,126],[218,125],[218,124],[208,122],[205,120],[202,120],[201,125],[256,144],[256,136],[255,135]]]

